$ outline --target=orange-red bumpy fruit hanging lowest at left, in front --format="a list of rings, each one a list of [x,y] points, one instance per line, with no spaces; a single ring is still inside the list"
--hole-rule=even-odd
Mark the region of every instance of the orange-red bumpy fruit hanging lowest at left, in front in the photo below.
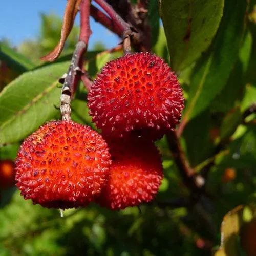
[[[30,135],[16,159],[16,186],[48,208],[86,206],[100,193],[111,164],[108,145],[88,126],[51,121]]]

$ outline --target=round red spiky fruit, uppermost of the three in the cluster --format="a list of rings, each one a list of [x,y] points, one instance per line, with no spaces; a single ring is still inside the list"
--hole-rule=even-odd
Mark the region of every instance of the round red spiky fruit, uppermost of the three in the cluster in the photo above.
[[[184,98],[175,73],[162,58],[134,53],[103,67],[91,87],[88,106],[104,136],[143,130],[140,135],[154,139],[179,123]]]

